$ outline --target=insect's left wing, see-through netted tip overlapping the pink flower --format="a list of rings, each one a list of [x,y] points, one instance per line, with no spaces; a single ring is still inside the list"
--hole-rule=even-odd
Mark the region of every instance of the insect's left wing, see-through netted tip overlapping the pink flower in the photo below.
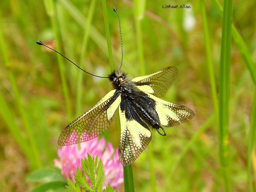
[[[72,145],[98,137],[112,123],[113,116],[121,102],[121,95],[116,90],[108,92],[90,110],[72,121],[60,133],[59,145]]]

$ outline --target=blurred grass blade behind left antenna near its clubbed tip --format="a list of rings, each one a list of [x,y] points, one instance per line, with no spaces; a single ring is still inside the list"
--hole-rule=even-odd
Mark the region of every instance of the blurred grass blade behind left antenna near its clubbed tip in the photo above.
[[[47,14],[51,20],[52,24],[52,30],[54,34],[54,39],[56,43],[56,49],[60,52],[61,50],[61,41],[60,41],[60,31],[58,30],[58,19],[57,19],[57,12],[56,12],[56,6],[57,2],[52,1],[52,0],[44,0],[44,6],[47,11]],[[58,68],[60,71],[60,80],[61,80],[61,89],[64,95],[65,99],[65,106],[66,106],[66,111],[68,113],[68,119],[71,121],[72,115],[71,115],[71,104],[70,104],[70,99],[69,99],[69,92],[68,92],[68,83],[67,79],[65,76],[65,70],[64,70],[64,63],[63,63],[63,57],[59,54],[56,55],[57,60],[58,60]]]

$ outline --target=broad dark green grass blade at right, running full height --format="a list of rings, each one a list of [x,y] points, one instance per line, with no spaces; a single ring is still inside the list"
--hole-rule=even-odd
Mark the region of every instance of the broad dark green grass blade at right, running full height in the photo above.
[[[220,53],[220,165],[226,191],[231,191],[229,176],[229,92],[231,67],[232,0],[224,1]]]

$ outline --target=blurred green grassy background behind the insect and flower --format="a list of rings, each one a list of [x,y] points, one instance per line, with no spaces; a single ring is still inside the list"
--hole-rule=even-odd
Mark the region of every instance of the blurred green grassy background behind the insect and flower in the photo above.
[[[88,72],[108,75],[101,1],[96,1],[93,9],[84,49],[90,3],[88,0],[0,1],[1,191],[30,191],[35,184],[25,181],[27,175],[32,170],[53,165],[62,129],[111,90],[107,79],[85,74],[56,53],[36,44],[41,40]],[[195,112],[188,123],[165,128],[166,137],[152,133],[151,152],[147,148],[132,164],[135,191],[154,191],[154,185],[156,191],[225,191],[219,158],[219,126],[214,119],[209,60],[205,51],[206,47],[210,48],[211,75],[215,78],[218,98],[222,34],[218,4],[213,0],[205,4],[202,0],[146,1],[134,8],[133,3],[128,0],[107,2],[115,68],[120,65],[121,49],[114,6],[121,19],[123,70],[136,77],[167,66],[177,67],[179,75],[163,99],[186,105]],[[223,2],[219,3],[223,7]],[[186,4],[192,8],[163,9],[166,4],[178,7]],[[255,190],[256,183],[254,133],[249,132],[255,86],[253,70],[248,70],[246,56],[242,56],[248,53],[247,58],[255,63],[255,8],[255,1],[233,2],[233,24],[247,49],[239,48],[239,44],[232,41],[227,140],[230,145],[227,169],[232,191],[248,191],[248,183]],[[204,9],[208,45],[204,40]],[[145,66],[141,65],[141,53]],[[103,136],[118,148],[116,118]],[[250,136],[252,142],[248,144]],[[253,149],[251,158],[248,146]],[[248,157],[252,160],[249,170]],[[249,180],[248,176],[251,176]]]

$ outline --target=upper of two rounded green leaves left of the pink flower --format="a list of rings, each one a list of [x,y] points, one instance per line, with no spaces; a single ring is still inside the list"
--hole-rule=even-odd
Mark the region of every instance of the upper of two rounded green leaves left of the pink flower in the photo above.
[[[62,181],[66,180],[61,175],[60,170],[53,168],[39,169],[31,172],[27,179],[27,182],[52,182],[52,181]]]

